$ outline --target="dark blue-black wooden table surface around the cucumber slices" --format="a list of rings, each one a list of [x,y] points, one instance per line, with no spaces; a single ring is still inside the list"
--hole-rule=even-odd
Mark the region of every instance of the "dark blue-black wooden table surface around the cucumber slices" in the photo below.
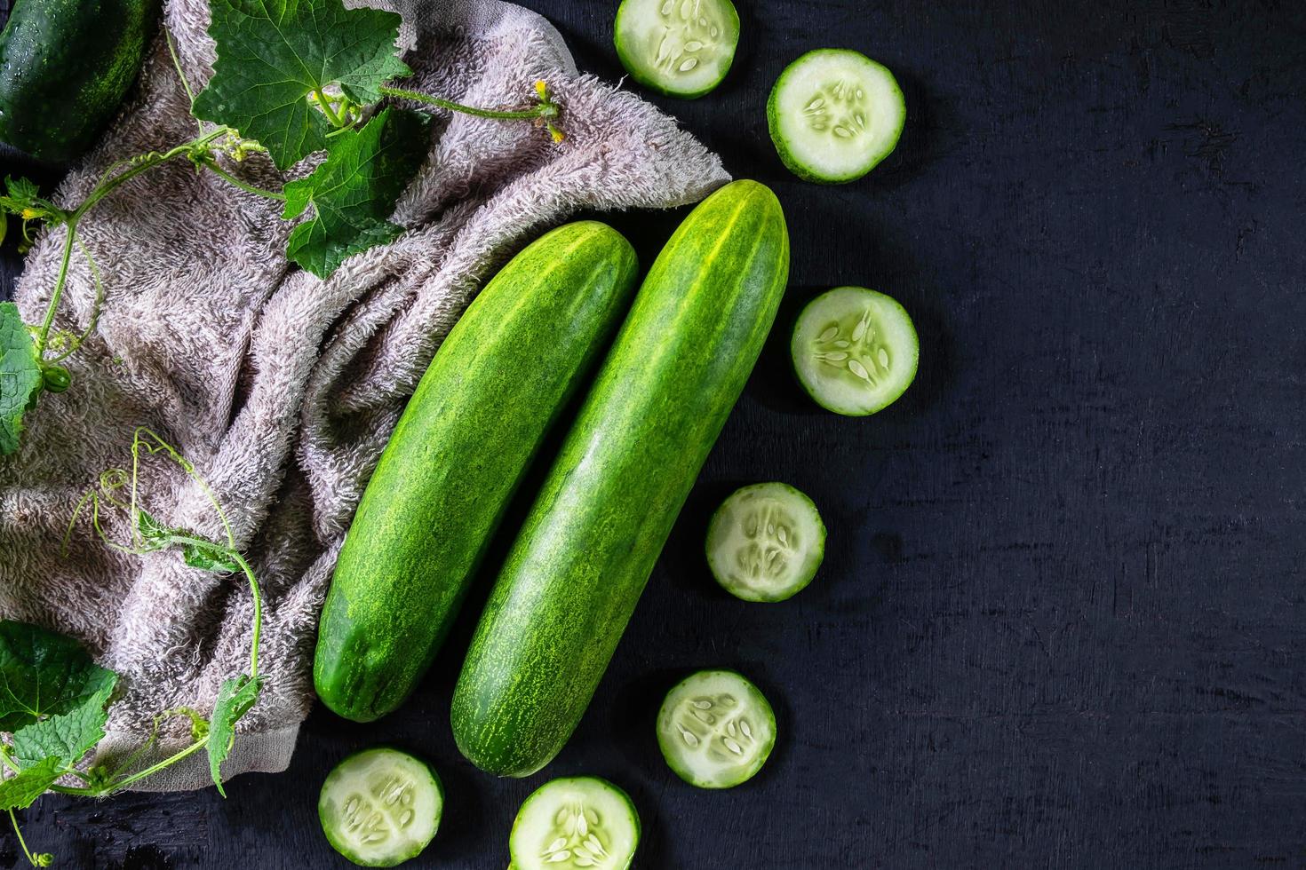
[[[582,68],[620,76],[615,4],[528,5]],[[741,13],[725,86],[660,102],[774,187],[791,299],[892,293],[921,373],[888,411],[841,419],[768,351],[547,773],[629,789],[649,869],[1306,866],[1306,7]],[[782,170],[763,112],[821,46],[884,61],[909,107],[897,153],[832,189]],[[616,223],[646,257],[678,217]],[[727,597],[700,556],[710,509],[761,479],[808,492],[831,530],[818,582],[777,607]],[[46,798],[26,830],[64,866],[346,866],[317,788],[385,740],[448,787],[413,866],[502,870],[543,777],[458,757],[457,659],[377,725],[319,711],[287,773],[227,801]],[[653,738],[662,693],[707,665],[751,674],[780,719],[768,767],[727,793],[683,785]]]

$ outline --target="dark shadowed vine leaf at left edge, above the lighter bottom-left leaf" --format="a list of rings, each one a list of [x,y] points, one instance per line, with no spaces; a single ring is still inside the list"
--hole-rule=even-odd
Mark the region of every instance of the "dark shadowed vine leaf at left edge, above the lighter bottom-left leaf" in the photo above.
[[[0,621],[0,730],[63,716],[112,691],[118,674],[74,639],[26,622]]]

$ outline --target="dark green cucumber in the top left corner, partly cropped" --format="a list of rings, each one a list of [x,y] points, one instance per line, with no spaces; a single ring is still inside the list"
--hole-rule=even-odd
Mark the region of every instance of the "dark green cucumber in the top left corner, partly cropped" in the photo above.
[[[18,0],[0,33],[0,142],[81,157],[136,81],[161,0]]]

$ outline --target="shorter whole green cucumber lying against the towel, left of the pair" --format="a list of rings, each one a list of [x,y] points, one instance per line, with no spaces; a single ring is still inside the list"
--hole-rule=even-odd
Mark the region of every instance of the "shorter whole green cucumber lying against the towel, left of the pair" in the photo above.
[[[313,683],[371,721],[439,651],[513,490],[626,313],[631,244],[571,223],[515,257],[422,377],[363,493],[317,631]]]

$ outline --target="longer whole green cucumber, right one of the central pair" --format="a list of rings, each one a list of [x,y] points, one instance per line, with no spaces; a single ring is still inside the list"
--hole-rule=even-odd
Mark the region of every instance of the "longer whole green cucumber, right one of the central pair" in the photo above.
[[[785,291],[776,196],[735,181],[658,256],[500,573],[453,694],[458,749],[529,776],[575,730]]]

